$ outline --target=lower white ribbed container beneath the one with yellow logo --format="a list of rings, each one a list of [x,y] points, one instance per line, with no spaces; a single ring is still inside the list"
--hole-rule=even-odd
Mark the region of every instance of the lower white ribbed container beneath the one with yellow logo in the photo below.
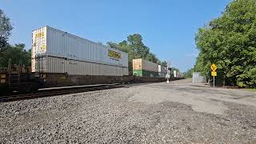
[[[128,75],[128,68],[105,64],[56,58],[44,55],[32,59],[32,71],[43,73],[67,73],[70,75]]]

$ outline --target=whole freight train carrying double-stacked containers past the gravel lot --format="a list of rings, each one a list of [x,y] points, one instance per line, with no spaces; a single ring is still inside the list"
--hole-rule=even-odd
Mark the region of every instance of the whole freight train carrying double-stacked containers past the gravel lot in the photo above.
[[[147,70],[156,69],[143,66]],[[0,71],[2,93],[58,86],[166,81],[159,77],[158,66],[153,70],[154,75],[144,69],[141,74],[128,75],[128,54],[50,26],[32,32],[31,71],[24,72],[21,66],[14,69]]]

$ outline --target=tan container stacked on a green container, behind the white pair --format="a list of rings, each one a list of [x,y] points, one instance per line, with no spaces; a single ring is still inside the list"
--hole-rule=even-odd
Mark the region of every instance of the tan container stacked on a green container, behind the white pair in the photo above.
[[[158,77],[158,64],[145,59],[133,59],[133,74],[140,77]]]

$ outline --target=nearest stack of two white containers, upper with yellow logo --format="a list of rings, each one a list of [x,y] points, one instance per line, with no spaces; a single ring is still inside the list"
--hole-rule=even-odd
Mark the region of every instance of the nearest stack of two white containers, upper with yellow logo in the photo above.
[[[128,54],[62,30],[32,32],[32,72],[128,75]]]

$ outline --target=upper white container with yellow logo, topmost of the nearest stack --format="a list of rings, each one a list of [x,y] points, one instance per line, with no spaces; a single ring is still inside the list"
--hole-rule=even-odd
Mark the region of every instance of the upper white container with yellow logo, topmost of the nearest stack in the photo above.
[[[128,67],[128,54],[50,26],[32,32],[31,56],[38,54]]]

